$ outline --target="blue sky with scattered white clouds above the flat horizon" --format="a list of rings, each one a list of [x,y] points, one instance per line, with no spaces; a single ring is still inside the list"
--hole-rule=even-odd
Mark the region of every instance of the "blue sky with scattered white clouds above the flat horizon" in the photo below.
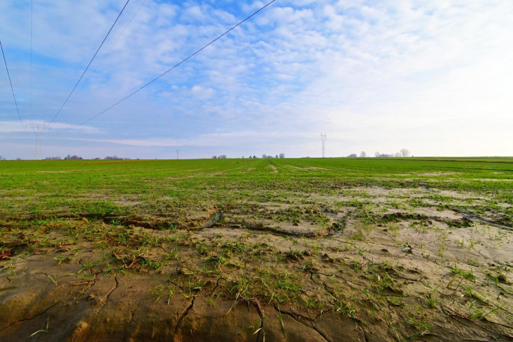
[[[57,115],[125,3],[0,1],[0,156],[513,156],[511,0],[276,0],[98,115],[266,4],[130,0]]]

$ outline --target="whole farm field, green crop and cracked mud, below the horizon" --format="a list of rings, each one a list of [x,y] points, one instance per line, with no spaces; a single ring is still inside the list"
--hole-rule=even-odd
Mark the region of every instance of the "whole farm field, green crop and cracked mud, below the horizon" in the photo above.
[[[0,161],[0,339],[504,340],[513,158]]]

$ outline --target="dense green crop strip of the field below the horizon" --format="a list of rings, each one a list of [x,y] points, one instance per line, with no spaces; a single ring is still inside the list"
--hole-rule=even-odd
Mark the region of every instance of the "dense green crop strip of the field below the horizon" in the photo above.
[[[355,186],[485,191],[490,200],[513,200],[513,158],[3,161],[0,170],[2,214],[17,217],[283,203],[291,199],[288,192],[308,198]],[[123,205],[132,201],[135,212]]]

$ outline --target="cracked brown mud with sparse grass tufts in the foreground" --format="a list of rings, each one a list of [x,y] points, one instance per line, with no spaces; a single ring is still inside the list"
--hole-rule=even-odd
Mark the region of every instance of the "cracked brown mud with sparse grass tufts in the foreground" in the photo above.
[[[511,341],[511,222],[433,191],[11,217],[0,340]]]

